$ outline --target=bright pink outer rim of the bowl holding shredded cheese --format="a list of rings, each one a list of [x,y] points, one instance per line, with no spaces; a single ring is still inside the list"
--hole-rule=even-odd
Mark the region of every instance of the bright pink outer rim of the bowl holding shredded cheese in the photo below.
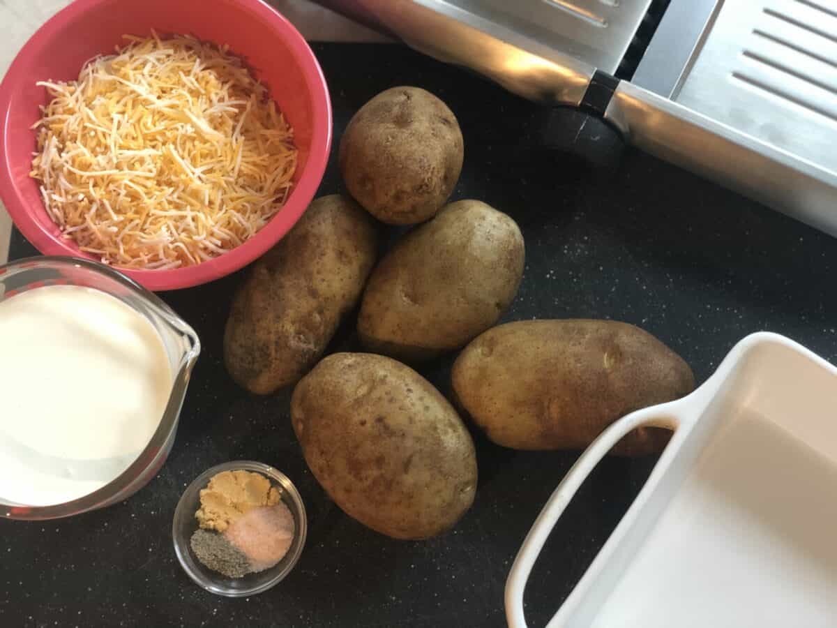
[[[73,245],[65,244],[54,234],[49,234],[32,217],[26,203],[18,195],[17,187],[11,177],[11,165],[8,162],[8,152],[5,150],[8,128],[8,102],[15,86],[22,80],[30,80],[25,74],[23,63],[28,54],[49,42],[54,32],[64,23],[77,18],[90,8],[113,0],[75,0],[68,7],[56,13],[28,39],[0,82],[0,197],[6,205],[8,214],[15,226],[43,255],[72,255],[96,260],[94,256],[80,252]],[[264,225],[252,238],[212,260],[198,265],[170,270],[136,270],[112,265],[151,291],[179,290],[192,286],[199,286],[209,281],[220,279],[235,270],[243,268],[250,262],[257,260],[275,245],[294,226],[305,212],[308,204],[320,187],[322,177],[326,172],[329,153],[331,152],[331,97],[328,93],[326,77],[322,73],[314,52],[285,16],[263,0],[235,0],[243,8],[251,10],[256,18],[263,19],[273,25],[279,33],[277,36],[285,40],[291,54],[299,64],[306,83],[310,86],[313,103],[311,111],[311,150],[305,169],[290,193],[285,206],[275,215],[270,223]]]

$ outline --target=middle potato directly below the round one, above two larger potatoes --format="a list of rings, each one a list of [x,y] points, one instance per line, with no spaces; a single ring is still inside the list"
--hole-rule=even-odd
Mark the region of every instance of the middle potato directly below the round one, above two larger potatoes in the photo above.
[[[357,318],[364,347],[407,362],[464,347],[514,300],[524,258],[509,216],[480,201],[450,203],[372,271]]]

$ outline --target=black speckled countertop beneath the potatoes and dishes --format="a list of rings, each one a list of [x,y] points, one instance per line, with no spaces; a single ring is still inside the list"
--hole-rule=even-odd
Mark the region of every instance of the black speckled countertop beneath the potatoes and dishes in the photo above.
[[[319,44],[335,137],[378,91],[419,85],[446,100],[465,136],[454,198],[511,214],[526,273],[504,320],[614,318],[654,333],[698,382],[750,332],[792,337],[837,360],[837,239],[637,152],[589,172],[557,155],[526,157],[541,111],[500,88],[400,46]],[[336,146],[336,143],[335,143]],[[334,159],[321,194],[341,190]],[[12,258],[33,255],[19,234]],[[163,297],[203,341],[166,465],[127,502],[55,522],[0,521],[2,626],[502,626],[517,548],[578,452],[504,450],[475,435],[474,507],[444,537],[393,541],[344,515],[302,460],[289,394],[257,398],[224,372],[221,337],[240,276]],[[352,344],[350,332],[338,343]],[[443,392],[449,360],[425,369]],[[275,589],[244,600],[192,583],[172,551],[181,492],[209,466],[264,461],[295,481],[308,544]],[[526,593],[545,625],[654,465],[603,462],[553,533]]]

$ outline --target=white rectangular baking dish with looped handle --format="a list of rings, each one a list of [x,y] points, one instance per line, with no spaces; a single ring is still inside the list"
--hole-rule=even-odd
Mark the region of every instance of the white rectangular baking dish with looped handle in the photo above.
[[[549,628],[837,625],[837,368],[757,333],[685,399],[629,414],[552,494],[506,583],[523,589],[557,518],[639,425],[675,429],[639,496]]]

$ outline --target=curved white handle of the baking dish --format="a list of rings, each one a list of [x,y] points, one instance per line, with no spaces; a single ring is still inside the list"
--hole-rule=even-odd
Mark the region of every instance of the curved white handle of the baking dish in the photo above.
[[[564,479],[552,493],[547,505],[543,507],[526,540],[517,553],[515,563],[511,566],[509,578],[506,580],[506,620],[510,628],[526,628],[526,617],[523,613],[523,589],[529,580],[531,568],[547,542],[552,528],[562,512],[573,499],[578,488],[583,484],[590,472],[598,465],[602,458],[622,440],[631,430],[643,426],[671,428],[670,421],[662,420],[659,409],[648,408],[624,416],[614,422],[593,440],[587,450],[564,476]],[[553,617],[554,619],[554,617]]]

